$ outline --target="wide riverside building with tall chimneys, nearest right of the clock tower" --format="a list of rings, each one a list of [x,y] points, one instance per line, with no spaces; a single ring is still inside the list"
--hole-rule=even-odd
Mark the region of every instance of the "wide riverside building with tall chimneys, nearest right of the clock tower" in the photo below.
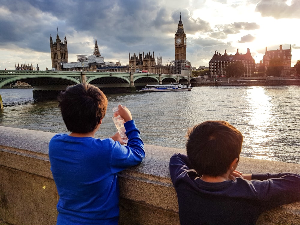
[[[250,49],[247,49],[246,54],[240,54],[236,49],[235,55],[222,55],[217,50],[214,51],[214,56],[209,61],[209,77],[226,77],[226,67],[229,64],[240,61],[246,68],[246,72],[241,74],[242,77],[251,77],[255,71],[255,60],[251,56]]]

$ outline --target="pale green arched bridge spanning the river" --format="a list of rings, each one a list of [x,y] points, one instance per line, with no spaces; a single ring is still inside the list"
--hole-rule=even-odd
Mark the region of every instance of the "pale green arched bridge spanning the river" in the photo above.
[[[133,93],[145,85],[182,83],[196,85],[196,78],[180,74],[0,70],[0,88],[16,81],[33,87],[33,98],[56,98],[69,85],[90,83],[104,93]]]

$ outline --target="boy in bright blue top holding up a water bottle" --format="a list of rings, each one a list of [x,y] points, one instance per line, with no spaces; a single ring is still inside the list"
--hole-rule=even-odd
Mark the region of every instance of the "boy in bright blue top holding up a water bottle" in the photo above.
[[[70,134],[56,134],[49,143],[49,159],[57,187],[57,224],[118,224],[117,173],[145,158],[144,143],[130,111],[119,105],[125,120],[127,146],[119,133],[94,138],[107,110],[107,98],[90,84],[69,86],[58,97]]]

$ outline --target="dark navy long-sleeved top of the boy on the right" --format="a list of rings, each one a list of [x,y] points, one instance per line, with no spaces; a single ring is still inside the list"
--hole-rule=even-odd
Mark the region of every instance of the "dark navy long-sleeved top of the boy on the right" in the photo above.
[[[300,201],[299,174],[253,173],[251,181],[210,183],[190,168],[187,155],[171,157],[170,175],[182,225],[255,224],[263,211]]]

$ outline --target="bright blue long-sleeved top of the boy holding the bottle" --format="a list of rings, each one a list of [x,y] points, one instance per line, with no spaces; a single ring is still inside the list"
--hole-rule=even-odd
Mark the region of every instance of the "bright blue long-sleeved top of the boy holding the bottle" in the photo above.
[[[145,158],[144,143],[133,120],[124,124],[127,146],[111,138],[56,134],[49,159],[57,187],[57,224],[118,224],[117,173]]]

